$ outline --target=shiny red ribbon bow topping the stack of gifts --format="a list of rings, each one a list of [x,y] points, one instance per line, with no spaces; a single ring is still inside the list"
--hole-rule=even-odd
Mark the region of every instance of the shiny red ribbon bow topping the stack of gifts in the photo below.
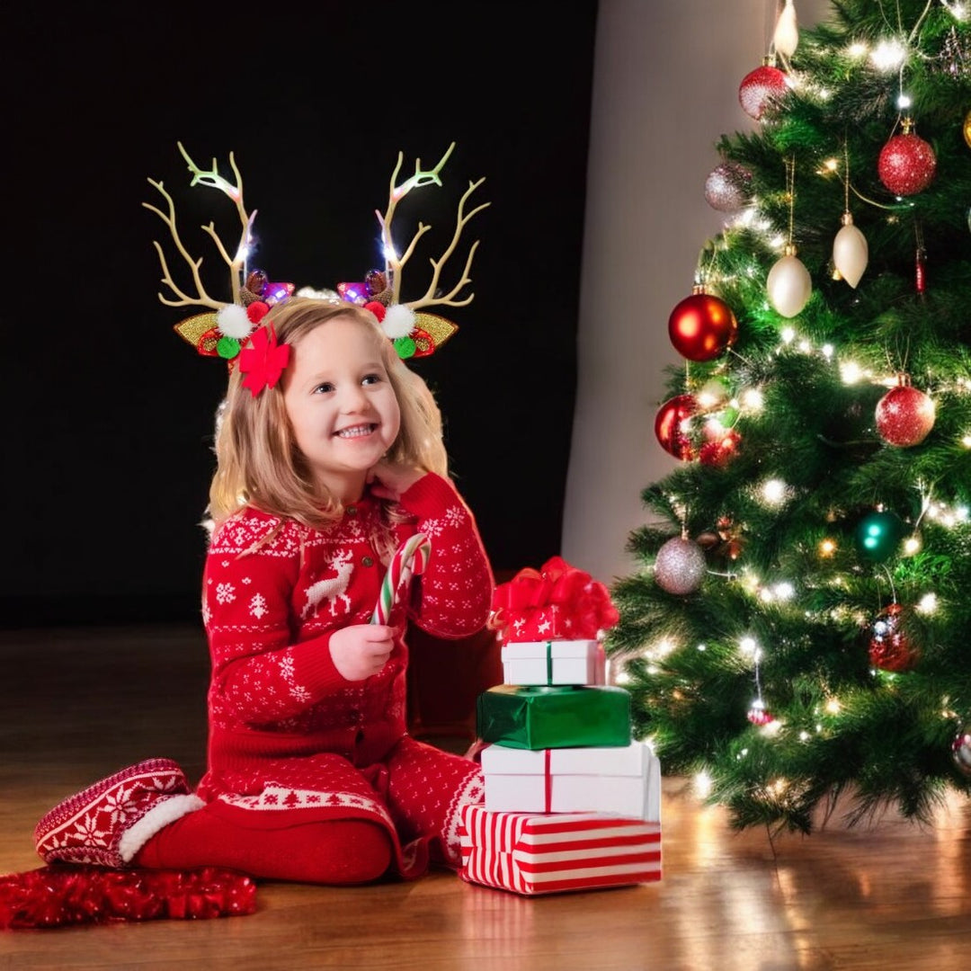
[[[556,639],[592,640],[619,620],[606,586],[561,556],[552,556],[540,570],[527,567],[496,586],[489,625],[501,631],[504,641],[512,635],[517,640],[539,640],[542,636],[534,636],[539,633],[537,621],[552,615]]]

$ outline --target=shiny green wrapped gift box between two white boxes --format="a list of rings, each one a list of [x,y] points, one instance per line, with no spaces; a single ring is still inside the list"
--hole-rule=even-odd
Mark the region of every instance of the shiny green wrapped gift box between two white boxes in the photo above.
[[[630,692],[612,685],[496,685],[476,702],[479,738],[510,749],[630,745]]]

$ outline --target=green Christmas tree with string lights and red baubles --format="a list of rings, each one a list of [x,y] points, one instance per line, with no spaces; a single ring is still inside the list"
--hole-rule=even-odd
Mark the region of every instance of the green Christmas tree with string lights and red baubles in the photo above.
[[[738,97],[613,677],[737,828],[930,820],[971,792],[971,11],[786,0]]]

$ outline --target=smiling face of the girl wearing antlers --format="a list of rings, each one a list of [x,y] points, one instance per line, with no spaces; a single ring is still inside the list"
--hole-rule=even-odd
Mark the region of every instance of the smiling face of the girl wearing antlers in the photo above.
[[[292,346],[284,373],[297,447],[318,484],[343,502],[361,497],[401,424],[380,340],[352,318],[330,318]]]

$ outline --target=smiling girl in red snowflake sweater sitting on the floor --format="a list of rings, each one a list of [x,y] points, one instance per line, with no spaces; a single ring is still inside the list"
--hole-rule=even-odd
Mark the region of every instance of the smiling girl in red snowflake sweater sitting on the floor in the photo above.
[[[293,297],[238,358],[216,451],[207,771],[192,792],[169,759],[123,769],[52,809],[38,853],[323,884],[457,869],[481,771],[408,736],[403,635],[409,618],[474,633],[493,581],[431,392],[370,311]],[[370,623],[416,532],[431,543],[423,574]]]

